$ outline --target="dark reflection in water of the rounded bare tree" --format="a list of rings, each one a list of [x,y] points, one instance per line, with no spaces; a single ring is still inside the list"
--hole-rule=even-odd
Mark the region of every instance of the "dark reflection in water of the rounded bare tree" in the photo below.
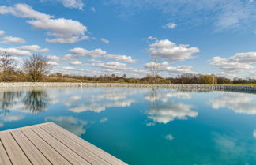
[[[28,91],[23,99],[24,108],[33,114],[45,111],[50,103],[47,92],[41,90]]]

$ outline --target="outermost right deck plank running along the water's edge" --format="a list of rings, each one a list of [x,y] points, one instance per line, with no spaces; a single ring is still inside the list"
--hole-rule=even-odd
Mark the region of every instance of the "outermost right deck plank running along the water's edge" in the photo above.
[[[95,153],[96,155],[102,157],[105,159],[107,162],[111,164],[126,164],[122,162],[122,160],[115,158],[115,156],[111,156],[109,153],[104,152],[104,150],[97,148],[95,145],[90,144],[88,141],[85,141],[81,139],[81,137],[77,137],[73,133],[70,133],[66,129],[63,129],[61,126],[55,125],[54,123],[49,123],[49,125],[52,129],[54,129],[56,132],[60,131],[62,134],[66,137],[69,137],[71,140],[73,140],[75,143],[80,144],[82,147],[87,148],[91,152]]]

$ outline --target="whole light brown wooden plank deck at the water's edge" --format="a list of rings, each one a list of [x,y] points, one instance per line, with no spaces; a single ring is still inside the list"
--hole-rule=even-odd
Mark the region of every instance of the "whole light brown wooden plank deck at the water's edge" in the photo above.
[[[52,122],[0,132],[0,164],[126,164]]]

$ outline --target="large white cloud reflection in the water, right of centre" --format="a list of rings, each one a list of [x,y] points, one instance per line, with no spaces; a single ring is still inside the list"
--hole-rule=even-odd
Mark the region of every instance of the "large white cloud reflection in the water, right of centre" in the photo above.
[[[167,124],[175,119],[186,120],[188,117],[195,118],[198,116],[197,111],[192,111],[193,105],[181,103],[171,97],[189,99],[190,93],[185,92],[159,92],[158,89],[152,89],[145,99],[149,100],[149,111],[146,111],[148,118],[153,122]],[[147,126],[154,124],[147,123]]]

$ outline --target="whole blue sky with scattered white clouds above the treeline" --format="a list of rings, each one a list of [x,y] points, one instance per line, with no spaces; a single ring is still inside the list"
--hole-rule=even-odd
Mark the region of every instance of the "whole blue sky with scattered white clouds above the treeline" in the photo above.
[[[0,2],[0,51],[49,58],[52,73],[256,78],[253,0]]]

